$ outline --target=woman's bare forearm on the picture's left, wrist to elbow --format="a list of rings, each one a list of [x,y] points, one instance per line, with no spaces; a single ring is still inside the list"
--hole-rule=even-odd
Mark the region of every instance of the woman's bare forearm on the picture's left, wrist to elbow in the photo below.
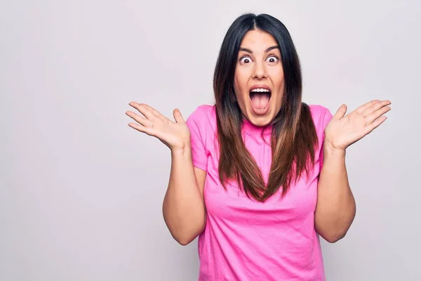
[[[192,150],[171,152],[171,174],[163,200],[163,217],[174,239],[188,244],[206,222],[203,196],[194,174]]]

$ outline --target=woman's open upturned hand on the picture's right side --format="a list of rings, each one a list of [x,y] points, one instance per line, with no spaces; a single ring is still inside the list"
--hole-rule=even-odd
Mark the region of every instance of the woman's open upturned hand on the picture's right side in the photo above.
[[[372,100],[347,113],[347,105],[339,107],[325,129],[325,148],[345,151],[349,145],[371,133],[387,119],[389,100]],[[327,146],[327,147],[326,147]]]

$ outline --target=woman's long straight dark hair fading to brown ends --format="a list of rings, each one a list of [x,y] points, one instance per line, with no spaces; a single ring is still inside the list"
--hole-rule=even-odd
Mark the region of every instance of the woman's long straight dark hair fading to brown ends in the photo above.
[[[272,120],[272,165],[267,185],[258,164],[241,138],[242,114],[234,93],[234,72],[243,37],[249,30],[272,34],[281,49],[285,93],[281,110]],[[222,185],[230,179],[242,186],[246,195],[264,202],[282,187],[282,196],[291,183],[314,165],[317,136],[309,106],[302,103],[300,60],[290,34],[271,15],[241,15],[229,27],[222,41],[213,77],[215,108],[220,143],[219,177]]]

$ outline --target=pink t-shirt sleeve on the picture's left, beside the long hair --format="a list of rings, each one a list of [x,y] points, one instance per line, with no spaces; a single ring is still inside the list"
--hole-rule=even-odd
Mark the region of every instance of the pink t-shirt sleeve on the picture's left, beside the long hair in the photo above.
[[[208,153],[206,152],[206,113],[200,107],[187,118],[186,124],[190,131],[193,166],[208,171]]]

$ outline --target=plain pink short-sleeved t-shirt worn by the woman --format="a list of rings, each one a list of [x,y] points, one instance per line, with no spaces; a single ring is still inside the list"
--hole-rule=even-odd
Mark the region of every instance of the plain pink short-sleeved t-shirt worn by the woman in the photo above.
[[[319,143],[332,115],[310,105]],[[206,228],[199,235],[199,280],[325,280],[319,235],[314,230],[317,183],[322,160],[319,145],[309,178],[266,202],[250,200],[235,183],[222,188],[218,176],[219,143],[215,106],[201,105],[187,119],[192,134],[193,164],[207,172],[204,197]],[[270,130],[243,122],[246,148],[267,182],[272,152]]]

